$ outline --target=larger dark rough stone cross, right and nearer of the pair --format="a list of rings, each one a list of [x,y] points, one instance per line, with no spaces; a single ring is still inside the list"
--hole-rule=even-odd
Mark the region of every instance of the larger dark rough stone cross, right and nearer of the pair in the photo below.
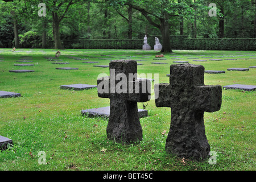
[[[171,126],[166,151],[181,158],[206,158],[210,151],[204,112],[221,107],[221,86],[204,85],[204,67],[172,64],[170,84],[155,85],[156,107],[171,107]]]

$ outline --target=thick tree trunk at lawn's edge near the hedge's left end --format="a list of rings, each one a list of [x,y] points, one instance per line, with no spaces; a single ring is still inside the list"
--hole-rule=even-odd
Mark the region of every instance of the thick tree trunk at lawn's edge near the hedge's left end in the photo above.
[[[52,32],[53,32],[53,38],[54,38],[54,48],[55,49],[63,49],[63,46],[61,45],[60,40],[60,22],[59,18],[57,16],[57,13],[52,13]]]

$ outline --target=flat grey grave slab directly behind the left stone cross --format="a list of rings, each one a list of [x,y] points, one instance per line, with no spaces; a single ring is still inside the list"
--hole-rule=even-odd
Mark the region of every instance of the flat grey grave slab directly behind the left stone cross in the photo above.
[[[106,117],[109,118],[110,107],[100,107],[95,109],[86,109],[81,111],[82,115],[88,114],[89,117]],[[147,117],[147,110],[138,109],[139,118]]]

